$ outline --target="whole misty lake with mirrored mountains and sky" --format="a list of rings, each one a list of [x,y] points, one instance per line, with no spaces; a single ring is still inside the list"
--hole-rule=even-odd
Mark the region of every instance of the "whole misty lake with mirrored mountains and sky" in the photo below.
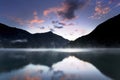
[[[0,49],[0,80],[120,80],[120,49]]]

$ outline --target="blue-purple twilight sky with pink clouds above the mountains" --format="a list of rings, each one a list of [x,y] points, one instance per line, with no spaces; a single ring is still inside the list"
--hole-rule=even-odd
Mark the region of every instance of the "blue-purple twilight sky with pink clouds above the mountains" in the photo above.
[[[120,0],[0,0],[0,23],[75,40],[120,14]]]

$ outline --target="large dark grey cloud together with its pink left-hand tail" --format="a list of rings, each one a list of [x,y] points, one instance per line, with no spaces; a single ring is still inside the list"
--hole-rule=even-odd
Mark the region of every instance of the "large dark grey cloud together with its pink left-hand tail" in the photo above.
[[[63,20],[71,20],[76,18],[75,12],[82,9],[90,0],[65,0],[60,7],[53,7],[43,12],[44,16],[48,16],[50,13],[55,13]]]

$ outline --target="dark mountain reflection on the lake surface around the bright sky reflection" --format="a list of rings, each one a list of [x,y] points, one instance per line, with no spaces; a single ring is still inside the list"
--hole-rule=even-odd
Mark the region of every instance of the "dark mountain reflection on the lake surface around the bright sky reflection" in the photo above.
[[[88,61],[103,74],[120,80],[120,49],[91,49],[83,52],[0,51],[0,73],[18,70],[28,64],[51,67],[68,56]]]

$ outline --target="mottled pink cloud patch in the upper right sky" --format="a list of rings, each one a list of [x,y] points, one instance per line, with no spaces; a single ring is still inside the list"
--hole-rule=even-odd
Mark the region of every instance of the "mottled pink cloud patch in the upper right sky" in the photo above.
[[[106,4],[103,5],[101,1],[98,1],[96,2],[96,7],[94,11],[94,14],[90,18],[100,19],[103,15],[108,14],[111,11],[111,8]]]

